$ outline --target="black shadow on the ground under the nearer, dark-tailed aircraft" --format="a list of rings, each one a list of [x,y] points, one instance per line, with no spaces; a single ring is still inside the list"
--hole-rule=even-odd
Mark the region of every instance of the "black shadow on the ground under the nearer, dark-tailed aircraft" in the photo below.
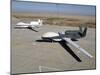
[[[48,43],[52,43],[55,41],[50,41],[50,40],[36,40],[36,42],[48,42]],[[74,57],[74,59],[76,59],[76,61],[81,62],[82,60],[72,51],[72,49],[66,45],[65,41],[61,41],[58,42],[72,57]]]

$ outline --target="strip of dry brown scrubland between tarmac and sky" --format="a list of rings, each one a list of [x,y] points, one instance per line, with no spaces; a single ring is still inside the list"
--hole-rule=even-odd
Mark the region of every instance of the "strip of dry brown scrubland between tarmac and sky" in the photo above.
[[[59,26],[88,26],[96,27],[95,16],[79,16],[79,15],[48,15],[48,14],[27,14],[13,13],[12,17],[18,18],[19,21],[30,22],[32,20],[42,19],[43,24],[59,25]],[[12,21],[13,22],[13,21]]]

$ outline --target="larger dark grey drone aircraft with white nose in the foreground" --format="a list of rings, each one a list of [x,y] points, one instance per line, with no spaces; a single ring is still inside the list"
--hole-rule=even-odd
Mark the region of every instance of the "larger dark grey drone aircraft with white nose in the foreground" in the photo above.
[[[81,52],[83,52],[85,55],[87,55],[88,57],[92,58],[93,56],[91,54],[89,54],[85,49],[81,48],[79,45],[77,45],[75,42],[73,41],[77,41],[77,39],[85,37],[86,36],[86,32],[87,32],[87,27],[83,28],[80,27],[80,30],[75,30],[75,31],[65,31],[65,32],[47,32],[45,34],[42,35],[42,39],[47,41],[56,41],[59,42],[60,44],[63,45],[63,47],[67,46],[67,44],[70,44],[74,47],[76,47],[77,49],[79,49]],[[67,46],[68,47],[68,46]],[[66,49],[66,48],[65,48]],[[70,49],[70,48],[67,48]],[[68,51],[68,50],[67,50]],[[72,51],[69,51],[70,54],[74,57],[75,54]],[[79,62],[81,61],[77,56],[75,56],[75,59],[77,59]]]

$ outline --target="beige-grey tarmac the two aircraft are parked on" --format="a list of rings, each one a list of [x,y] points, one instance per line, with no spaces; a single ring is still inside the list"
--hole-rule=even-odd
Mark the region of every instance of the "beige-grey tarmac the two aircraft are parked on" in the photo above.
[[[39,42],[41,35],[45,32],[62,32],[65,30],[75,30],[78,27],[43,25],[36,28],[39,32],[29,29],[11,29],[11,73],[35,73],[51,71],[68,71],[95,69],[96,37],[95,28],[88,28],[85,38],[75,41],[93,58],[87,57],[73,46],[68,46],[81,59],[78,62],[67,50],[58,42]]]

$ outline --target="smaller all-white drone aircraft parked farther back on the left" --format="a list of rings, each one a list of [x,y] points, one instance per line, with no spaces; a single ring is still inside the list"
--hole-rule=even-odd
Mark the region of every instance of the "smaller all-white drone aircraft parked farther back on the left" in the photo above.
[[[38,19],[38,21],[31,21],[30,23],[19,22],[16,24],[15,28],[20,28],[20,29],[27,28],[27,29],[31,29],[33,31],[36,31],[34,29],[39,28],[42,25],[43,25],[43,21]]]

